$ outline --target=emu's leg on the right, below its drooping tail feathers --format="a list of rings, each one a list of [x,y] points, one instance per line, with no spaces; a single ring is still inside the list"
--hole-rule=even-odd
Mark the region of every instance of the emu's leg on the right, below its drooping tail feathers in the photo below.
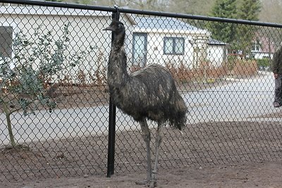
[[[156,158],[154,161],[154,170],[152,172],[152,182],[150,184],[150,187],[156,187],[157,186],[157,170],[158,170],[158,160],[159,160],[159,146],[161,145],[161,140],[163,137],[162,129],[164,127],[164,123],[158,123],[158,129],[157,129],[157,136],[156,136]]]

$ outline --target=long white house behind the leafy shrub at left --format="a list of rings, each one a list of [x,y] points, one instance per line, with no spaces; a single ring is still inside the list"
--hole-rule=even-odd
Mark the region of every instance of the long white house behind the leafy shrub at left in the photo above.
[[[1,6],[0,12],[0,52],[5,56],[14,55],[11,49],[16,33],[22,32],[27,39],[32,40],[35,39],[35,30],[39,28],[40,33],[51,32],[54,40],[57,40],[63,35],[64,25],[69,24],[68,53],[83,51],[90,46],[94,47],[94,50],[85,57],[86,61],[68,70],[66,74],[75,77],[78,70],[82,70],[85,74],[93,74],[97,66],[106,68],[111,48],[111,32],[102,29],[111,23],[111,12],[45,6]],[[127,46],[130,49],[131,30],[135,22],[129,14],[121,16],[128,27]]]

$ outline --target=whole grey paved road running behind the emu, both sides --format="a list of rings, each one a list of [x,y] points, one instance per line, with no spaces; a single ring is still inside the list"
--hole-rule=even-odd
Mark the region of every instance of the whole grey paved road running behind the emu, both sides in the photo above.
[[[189,123],[209,121],[247,120],[257,115],[274,113],[272,106],[274,80],[271,73],[248,79],[233,80],[229,84],[185,94],[189,106]],[[69,108],[52,113],[38,111],[37,115],[11,117],[18,142],[107,134],[109,106]],[[8,144],[5,115],[0,114],[0,143]],[[138,126],[128,115],[117,113],[118,131]],[[267,120],[267,119],[265,119]],[[151,123],[151,126],[154,126]],[[0,145],[1,145],[0,144]]]

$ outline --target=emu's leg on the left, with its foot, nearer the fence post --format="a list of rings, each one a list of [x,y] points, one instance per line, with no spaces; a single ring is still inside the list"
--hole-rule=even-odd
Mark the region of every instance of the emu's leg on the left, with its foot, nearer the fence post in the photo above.
[[[149,127],[147,125],[146,120],[140,121],[140,126],[142,130],[142,136],[143,139],[146,143],[146,151],[147,151],[147,180],[142,181],[142,182],[136,182],[136,184],[149,184],[152,182],[152,163],[151,163],[151,151],[150,151],[150,132],[149,132]]]

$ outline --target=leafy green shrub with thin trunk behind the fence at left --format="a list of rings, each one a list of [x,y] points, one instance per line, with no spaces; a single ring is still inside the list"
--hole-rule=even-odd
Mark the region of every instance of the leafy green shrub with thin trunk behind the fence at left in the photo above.
[[[60,39],[54,39],[52,32],[40,33],[35,30],[32,39],[18,32],[13,39],[13,56],[0,54],[0,108],[6,115],[10,142],[16,146],[13,137],[10,115],[23,111],[23,115],[34,113],[39,106],[51,111],[56,107],[51,101],[50,82],[61,71],[72,68],[82,61],[85,51],[68,51],[69,24],[64,25]],[[56,83],[55,83],[56,84]]]

